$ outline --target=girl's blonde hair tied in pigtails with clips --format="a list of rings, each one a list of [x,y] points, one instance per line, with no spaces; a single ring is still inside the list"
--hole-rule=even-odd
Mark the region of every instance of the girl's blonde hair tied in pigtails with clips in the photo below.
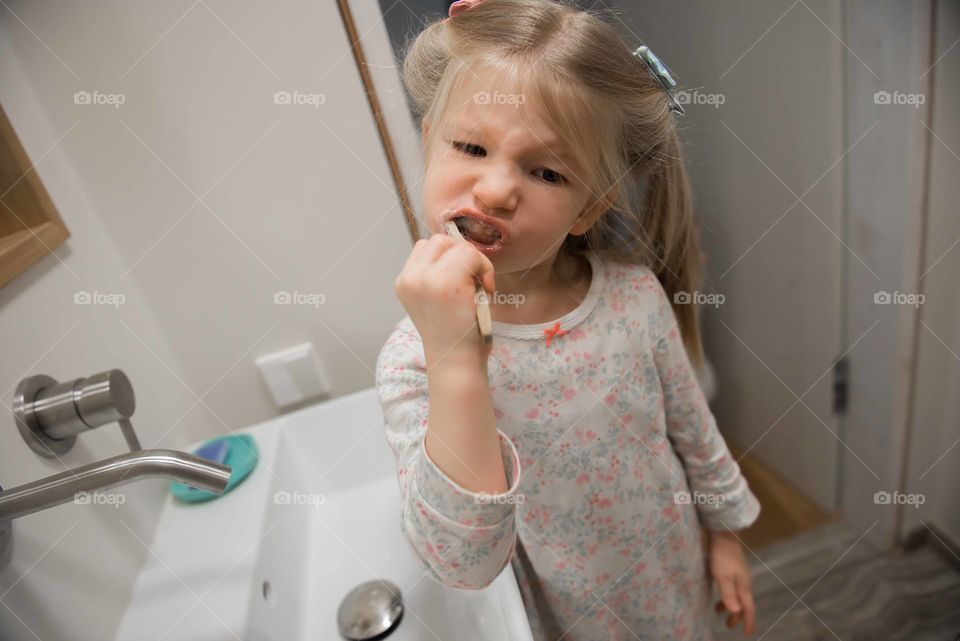
[[[670,299],[690,360],[703,350],[692,301],[700,284],[692,194],[669,98],[618,30],[599,14],[555,0],[484,0],[426,26],[404,56],[416,115],[441,122],[464,72],[479,66],[530,83],[546,116],[577,156],[593,205],[606,208],[560,251],[594,251],[646,265]],[[427,147],[439,127],[427,127]],[[687,297],[689,298],[689,297]]]

